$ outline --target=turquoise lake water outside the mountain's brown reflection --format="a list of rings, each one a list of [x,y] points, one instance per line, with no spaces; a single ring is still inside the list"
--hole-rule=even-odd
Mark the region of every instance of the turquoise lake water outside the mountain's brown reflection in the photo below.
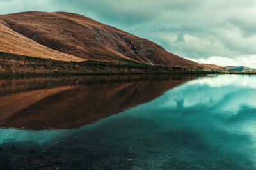
[[[143,95],[157,90],[152,82],[179,83],[148,101],[129,96],[129,102],[136,100],[132,106],[79,127],[3,127],[0,165],[9,169],[256,169],[256,76],[141,81],[149,89],[152,86],[151,91],[139,92]],[[113,97],[109,101],[113,106],[118,103]],[[94,102],[99,108],[103,104],[101,99]]]

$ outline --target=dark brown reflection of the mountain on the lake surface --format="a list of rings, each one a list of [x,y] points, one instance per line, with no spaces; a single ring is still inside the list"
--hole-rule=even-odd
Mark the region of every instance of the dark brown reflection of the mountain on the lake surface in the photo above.
[[[0,80],[0,126],[72,129],[147,103],[191,76]]]

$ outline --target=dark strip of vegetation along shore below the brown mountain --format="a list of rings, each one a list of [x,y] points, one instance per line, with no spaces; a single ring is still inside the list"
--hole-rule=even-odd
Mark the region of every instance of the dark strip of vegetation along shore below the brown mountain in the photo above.
[[[205,73],[194,69],[193,73]],[[149,66],[127,61],[125,64],[111,62],[65,62],[40,59],[0,52],[1,76],[51,75],[51,74],[115,74],[115,73],[191,73],[191,69],[181,67]],[[207,72],[209,73],[209,72]]]

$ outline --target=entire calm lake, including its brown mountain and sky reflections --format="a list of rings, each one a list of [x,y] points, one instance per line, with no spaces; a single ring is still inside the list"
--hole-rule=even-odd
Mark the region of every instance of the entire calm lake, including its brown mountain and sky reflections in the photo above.
[[[256,169],[256,76],[0,80],[0,169]]]

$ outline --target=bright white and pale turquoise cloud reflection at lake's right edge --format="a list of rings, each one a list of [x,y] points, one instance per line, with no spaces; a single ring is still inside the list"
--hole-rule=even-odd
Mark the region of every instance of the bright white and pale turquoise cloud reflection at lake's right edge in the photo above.
[[[216,111],[236,114],[241,104],[255,106],[256,91],[253,86],[256,88],[256,76],[200,78],[170,90],[160,104],[168,108],[175,106],[176,101],[184,100],[184,107],[206,103]]]

